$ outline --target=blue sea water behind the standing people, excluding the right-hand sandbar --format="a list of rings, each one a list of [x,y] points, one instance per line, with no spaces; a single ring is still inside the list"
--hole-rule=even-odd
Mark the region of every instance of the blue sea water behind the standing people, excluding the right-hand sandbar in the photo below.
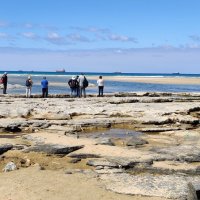
[[[0,74],[3,74],[0,71]],[[8,88],[9,94],[24,94],[25,81],[31,75],[33,80],[32,94],[41,93],[41,80],[44,76],[49,81],[49,94],[69,94],[68,80],[80,72],[33,72],[33,71],[10,71],[8,72],[8,83],[15,87]],[[106,76],[133,76],[133,77],[199,77],[200,74],[151,74],[151,73],[85,73],[86,77],[102,75]],[[96,80],[90,80],[92,87],[87,88],[87,93],[97,93]],[[104,93],[116,92],[199,92],[200,85],[179,84],[154,84],[138,82],[105,81]]]

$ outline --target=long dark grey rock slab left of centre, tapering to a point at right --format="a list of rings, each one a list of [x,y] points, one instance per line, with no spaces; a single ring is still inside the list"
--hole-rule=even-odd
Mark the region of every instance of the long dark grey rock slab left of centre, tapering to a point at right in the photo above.
[[[83,148],[84,145],[76,146],[65,146],[65,145],[56,145],[56,144],[43,144],[30,147],[25,150],[25,152],[44,152],[47,154],[69,154],[73,151]]]

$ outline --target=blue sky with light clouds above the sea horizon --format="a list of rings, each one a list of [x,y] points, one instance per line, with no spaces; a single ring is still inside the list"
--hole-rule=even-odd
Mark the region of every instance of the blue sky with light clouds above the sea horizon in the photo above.
[[[200,73],[199,0],[0,0],[0,70]]]

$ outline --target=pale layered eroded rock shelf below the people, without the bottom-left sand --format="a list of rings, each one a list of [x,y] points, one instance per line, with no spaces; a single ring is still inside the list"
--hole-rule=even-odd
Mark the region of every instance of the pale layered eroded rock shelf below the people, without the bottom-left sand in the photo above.
[[[18,151],[63,154],[74,165],[86,159],[85,166],[117,193],[185,199],[188,182],[200,183],[199,94],[38,97],[1,98],[0,137],[14,134],[22,144],[30,142]],[[109,128],[127,131],[108,137]],[[99,130],[96,137],[85,134]],[[2,155],[12,149],[5,144],[1,138]]]

